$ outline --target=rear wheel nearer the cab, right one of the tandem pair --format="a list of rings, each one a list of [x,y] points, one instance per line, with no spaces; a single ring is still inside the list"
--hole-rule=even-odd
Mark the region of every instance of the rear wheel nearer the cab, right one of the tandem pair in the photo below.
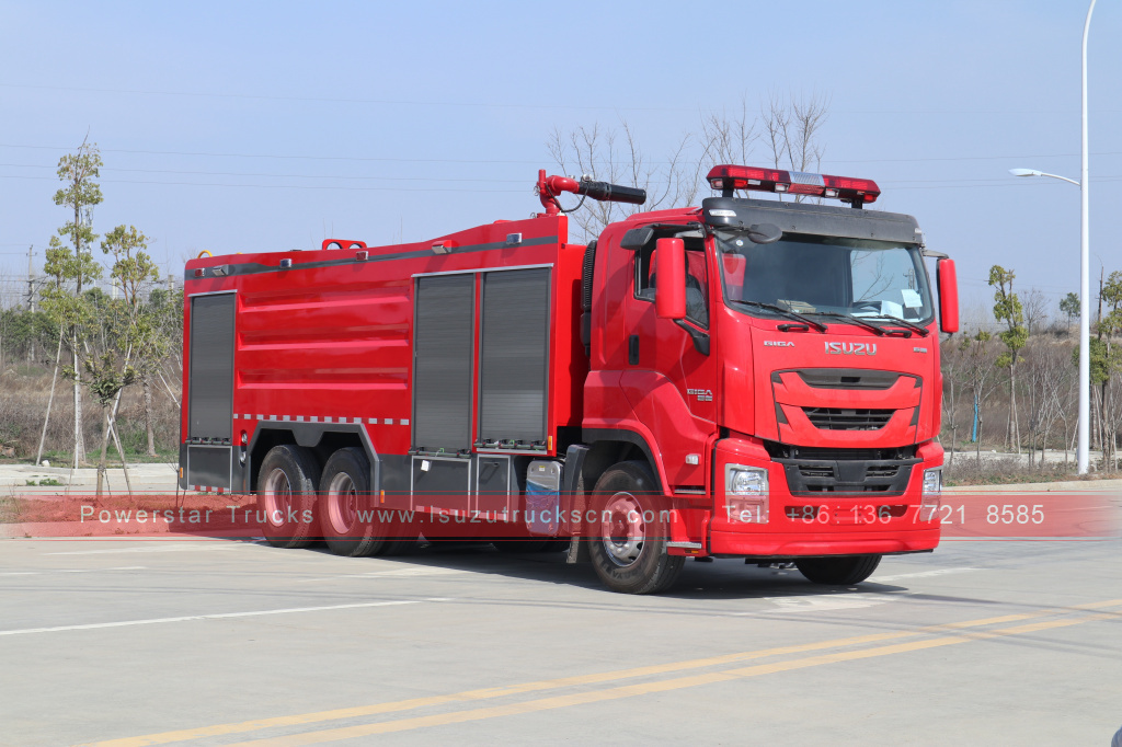
[[[340,449],[331,454],[320,478],[320,528],[335,555],[374,555],[386,544],[386,527],[369,514],[370,462],[361,449]],[[366,518],[366,520],[362,520]]]

